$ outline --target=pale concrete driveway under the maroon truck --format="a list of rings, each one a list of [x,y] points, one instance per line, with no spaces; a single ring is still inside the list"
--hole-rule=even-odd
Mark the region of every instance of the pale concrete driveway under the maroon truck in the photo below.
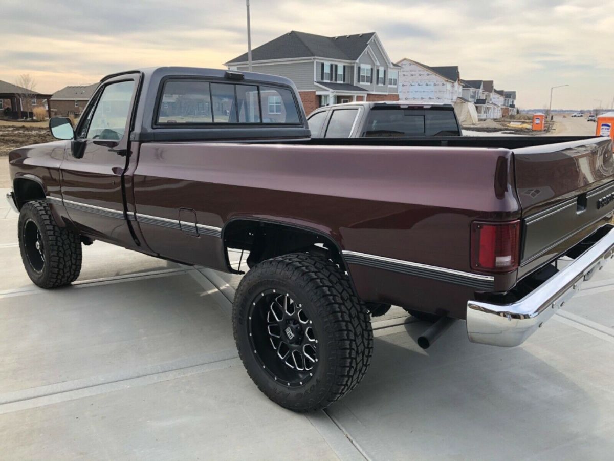
[[[427,324],[374,323],[362,384],[325,412],[260,393],[236,355],[239,277],[96,242],[39,290],[0,208],[2,459],[612,459],[614,266],[521,347],[423,351]]]

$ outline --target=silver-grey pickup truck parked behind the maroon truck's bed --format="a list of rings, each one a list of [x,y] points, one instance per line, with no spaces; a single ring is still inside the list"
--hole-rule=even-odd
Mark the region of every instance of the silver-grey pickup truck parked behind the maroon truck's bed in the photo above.
[[[307,123],[312,138],[462,136],[452,104],[333,104],[311,112]]]

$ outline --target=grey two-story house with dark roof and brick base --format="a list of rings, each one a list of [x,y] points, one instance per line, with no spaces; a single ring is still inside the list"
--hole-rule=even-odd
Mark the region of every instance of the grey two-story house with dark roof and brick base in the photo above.
[[[247,71],[247,53],[227,63]],[[252,50],[252,71],[287,77],[305,112],[351,101],[398,101],[399,67],[375,32],[325,37],[290,31]]]

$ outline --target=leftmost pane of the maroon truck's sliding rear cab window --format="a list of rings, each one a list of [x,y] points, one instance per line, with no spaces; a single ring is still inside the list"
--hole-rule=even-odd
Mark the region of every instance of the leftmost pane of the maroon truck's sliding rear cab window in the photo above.
[[[166,82],[158,124],[212,122],[211,94],[208,82]]]

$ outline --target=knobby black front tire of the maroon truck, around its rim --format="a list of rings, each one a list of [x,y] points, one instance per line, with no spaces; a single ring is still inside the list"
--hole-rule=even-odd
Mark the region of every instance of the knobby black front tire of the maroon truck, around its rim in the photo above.
[[[35,267],[26,244],[26,225],[36,225],[42,250],[42,267]],[[19,249],[23,266],[32,282],[41,288],[68,285],[79,277],[81,271],[81,240],[78,234],[58,227],[46,202],[28,202],[21,207],[18,219]]]

